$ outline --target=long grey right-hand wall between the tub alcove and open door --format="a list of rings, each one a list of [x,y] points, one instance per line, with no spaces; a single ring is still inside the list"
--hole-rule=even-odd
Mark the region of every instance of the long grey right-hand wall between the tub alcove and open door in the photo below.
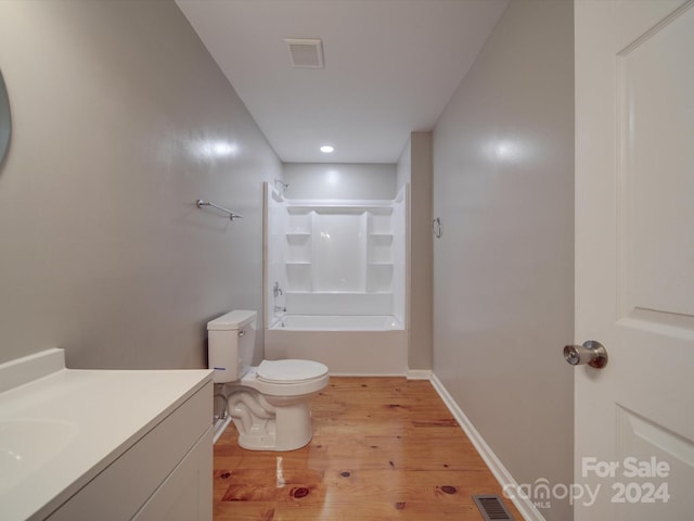
[[[514,0],[434,130],[434,371],[518,483],[573,480],[573,2]]]

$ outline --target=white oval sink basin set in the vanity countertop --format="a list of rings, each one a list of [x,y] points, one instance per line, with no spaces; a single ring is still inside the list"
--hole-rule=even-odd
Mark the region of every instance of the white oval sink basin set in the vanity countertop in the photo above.
[[[0,494],[39,472],[67,447],[79,429],[61,420],[0,420]]]

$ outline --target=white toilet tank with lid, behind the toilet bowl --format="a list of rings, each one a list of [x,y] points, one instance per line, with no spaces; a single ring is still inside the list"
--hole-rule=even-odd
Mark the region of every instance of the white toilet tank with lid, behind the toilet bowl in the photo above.
[[[207,322],[207,367],[215,370],[215,383],[240,380],[250,367],[256,318],[256,312],[235,310]]]

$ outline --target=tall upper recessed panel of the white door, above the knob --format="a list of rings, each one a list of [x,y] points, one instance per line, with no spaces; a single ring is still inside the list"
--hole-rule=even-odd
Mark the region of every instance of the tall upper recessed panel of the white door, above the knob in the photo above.
[[[619,53],[624,312],[694,315],[694,10]],[[673,103],[681,100],[681,103]],[[651,315],[651,314],[647,314]],[[646,315],[642,315],[645,318]],[[655,321],[660,321],[654,317]]]

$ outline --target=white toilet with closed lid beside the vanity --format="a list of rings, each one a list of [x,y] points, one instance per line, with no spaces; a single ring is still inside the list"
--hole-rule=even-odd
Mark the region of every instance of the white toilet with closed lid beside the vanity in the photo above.
[[[256,320],[256,312],[235,310],[207,322],[213,380],[226,384],[241,447],[294,450],[313,436],[308,401],[327,385],[327,367],[296,359],[252,367]]]

